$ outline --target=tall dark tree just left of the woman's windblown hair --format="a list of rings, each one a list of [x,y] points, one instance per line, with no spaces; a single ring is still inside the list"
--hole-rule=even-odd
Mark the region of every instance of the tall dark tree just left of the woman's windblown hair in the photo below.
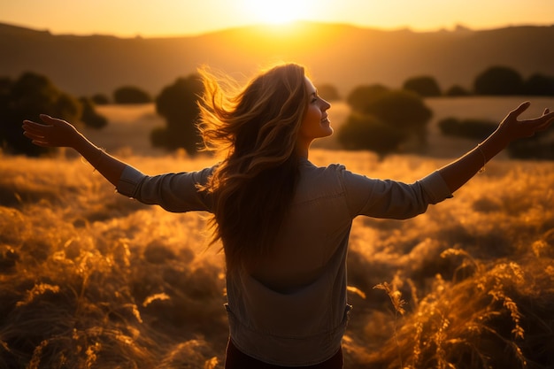
[[[162,90],[156,98],[156,111],[165,118],[166,127],[152,131],[152,145],[169,150],[183,148],[189,155],[196,153],[198,143],[202,142],[196,128],[199,114],[196,102],[202,91],[202,81],[197,74],[179,78]]]

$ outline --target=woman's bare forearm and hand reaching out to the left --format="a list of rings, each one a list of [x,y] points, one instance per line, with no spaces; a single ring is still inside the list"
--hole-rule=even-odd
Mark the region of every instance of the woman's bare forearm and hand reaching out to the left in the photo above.
[[[77,150],[88,163],[104,175],[114,186],[118,185],[119,177],[126,163],[104,152],[81,135],[75,127],[65,120],[41,115],[42,123],[31,120],[23,122],[23,135],[26,135],[35,145],[43,147],[70,147]]]

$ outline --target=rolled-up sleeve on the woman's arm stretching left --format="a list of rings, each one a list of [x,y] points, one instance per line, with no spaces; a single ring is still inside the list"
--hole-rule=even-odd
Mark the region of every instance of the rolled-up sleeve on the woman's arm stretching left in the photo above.
[[[166,211],[211,211],[211,198],[198,190],[207,183],[213,168],[198,172],[146,175],[126,166],[116,187],[119,194],[135,198],[143,204],[158,204]]]

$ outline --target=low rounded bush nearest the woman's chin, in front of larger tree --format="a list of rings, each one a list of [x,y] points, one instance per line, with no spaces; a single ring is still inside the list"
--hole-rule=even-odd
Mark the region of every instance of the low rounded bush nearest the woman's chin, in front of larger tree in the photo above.
[[[352,113],[338,132],[338,140],[346,150],[371,150],[380,158],[398,150],[405,135],[380,119]]]

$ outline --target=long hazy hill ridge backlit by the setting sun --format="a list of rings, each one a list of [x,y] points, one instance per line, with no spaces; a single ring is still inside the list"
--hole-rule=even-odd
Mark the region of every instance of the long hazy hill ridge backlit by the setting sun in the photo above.
[[[298,22],[289,27],[240,27],[171,38],[51,35],[0,24],[0,76],[43,73],[74,95],[112,94],[132,84],[158,94],[179,76],[207,64],[227,73],[252,73],[275,61],[295,61],[317,83],[342,94],[363,83],[398,87],[415,75],[432,75],[442,88],[471,87],[491,65],[527,77],[554,74],[554,27],[507,27],[428,33],[382,31],[339,24]]]

